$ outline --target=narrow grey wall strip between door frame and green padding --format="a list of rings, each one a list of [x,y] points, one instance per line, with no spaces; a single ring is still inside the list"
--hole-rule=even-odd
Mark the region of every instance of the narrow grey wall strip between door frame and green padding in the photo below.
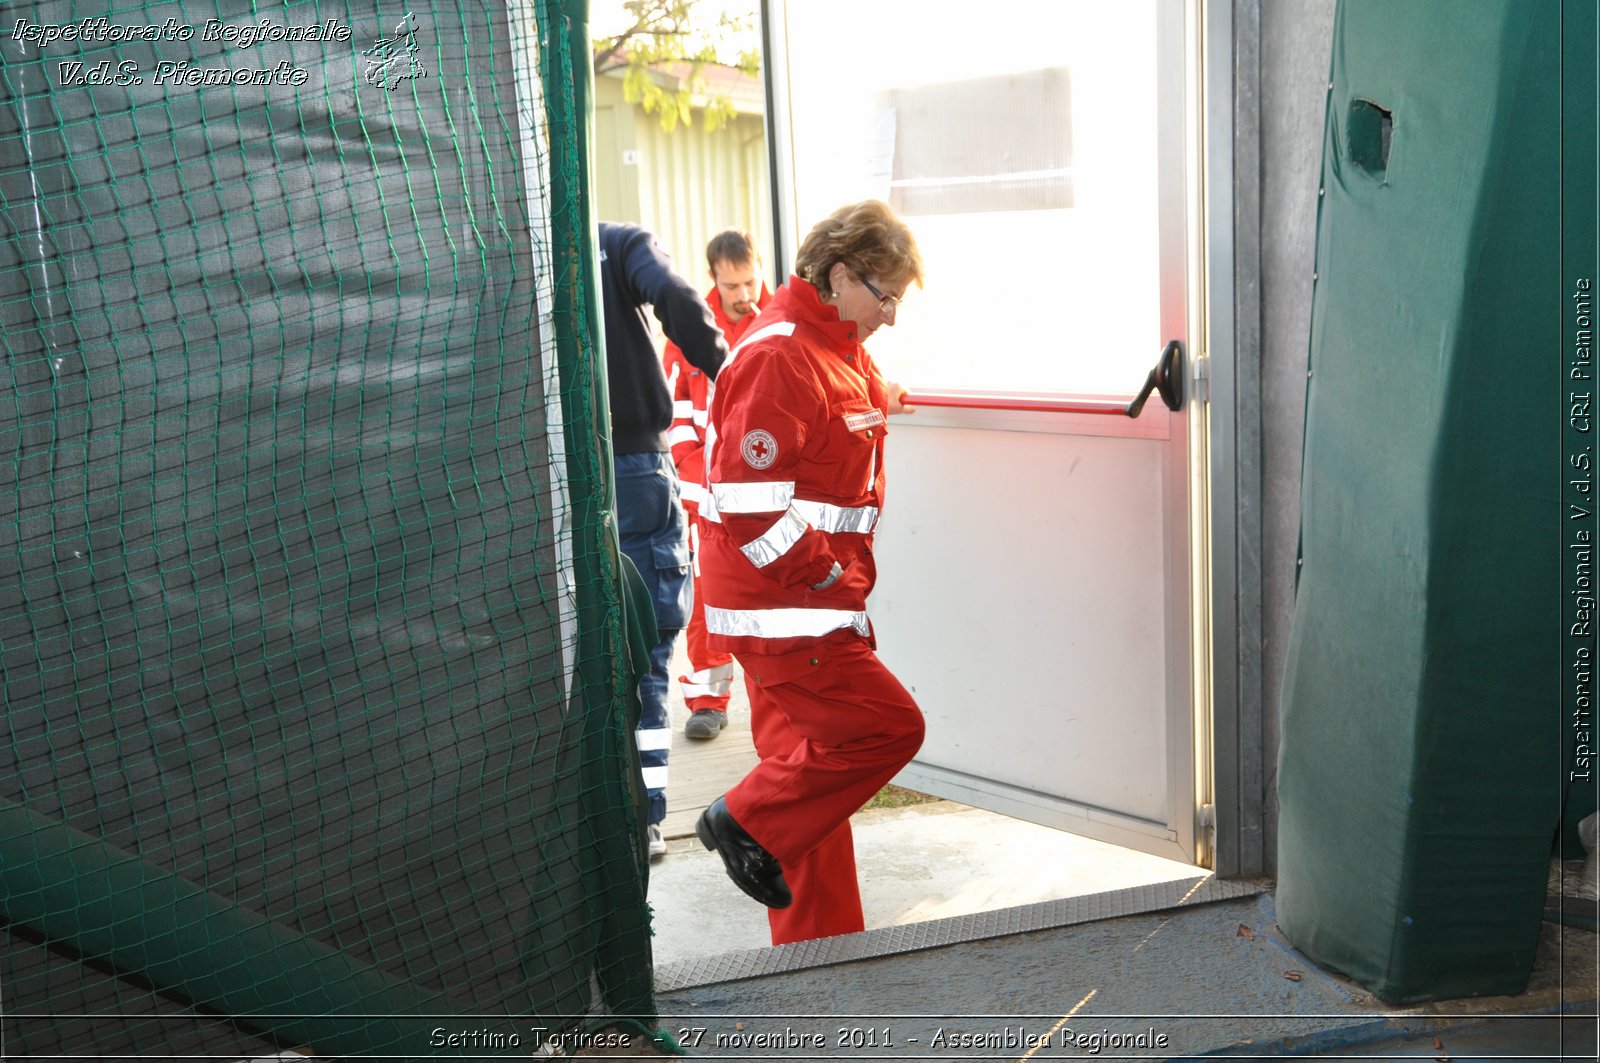
[[[1261,682],[1266,864],[1277,871],[1278,709],[1299,543],[1312,263],[1336,0],[1261,3]]]

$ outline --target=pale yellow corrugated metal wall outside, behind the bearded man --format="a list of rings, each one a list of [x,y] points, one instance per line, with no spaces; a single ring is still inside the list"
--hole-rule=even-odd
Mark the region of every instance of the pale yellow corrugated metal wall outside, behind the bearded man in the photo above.
[[[600,218],[654,232],[690,280],[709,288],[706,243],[723,229],[749,229],[776,287],[762,115],[741,114],[707,133],[704,114],[694,110],[690,128],[666,133],[654,115],[622,99],[619,78],[602,77],[594,166]]]

